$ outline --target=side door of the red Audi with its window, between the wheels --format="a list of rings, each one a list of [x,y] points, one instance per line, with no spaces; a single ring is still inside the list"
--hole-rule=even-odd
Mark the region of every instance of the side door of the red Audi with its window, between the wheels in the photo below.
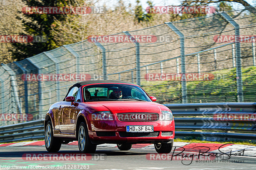
[[[76,96],[79,92],[77,87],[74,87],[68,93],[68,96]],[[80,96],[80,95],[79,95]],[[76,102],[62,102],[59,107],[59,125],[61,133],[75,133],[75,120],[76,120]]]

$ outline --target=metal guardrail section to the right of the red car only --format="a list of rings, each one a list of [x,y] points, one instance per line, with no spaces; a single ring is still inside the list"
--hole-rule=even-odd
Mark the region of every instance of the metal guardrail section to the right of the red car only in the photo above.
[[[256,103],[164,104],[172,110],[175,138],[256,142]],[[252,119],[244,115],[253,115]],[[218,118],[217,116],[227,116]],[[228,116],[232,116],[228,118]],[[246,132],[246,133],[240,133]]]

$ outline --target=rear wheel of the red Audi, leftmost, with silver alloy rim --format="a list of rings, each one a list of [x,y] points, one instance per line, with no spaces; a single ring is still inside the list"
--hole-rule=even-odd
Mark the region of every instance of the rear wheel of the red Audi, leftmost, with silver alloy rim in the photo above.
[[[52,122],[48,121],[44,131],[44,144],[48,152],[58,152],[61,147],[61,141],[53,137]]]

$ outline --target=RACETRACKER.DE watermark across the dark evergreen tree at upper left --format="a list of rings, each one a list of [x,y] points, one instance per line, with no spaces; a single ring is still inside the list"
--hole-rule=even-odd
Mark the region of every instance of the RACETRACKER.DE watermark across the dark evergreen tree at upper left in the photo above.
[[[21,11],[24,14],[103,14],[107,12],[107,8],[100,6],[65,6],[65,7],[56,7],[56,6],[31,6],[23,7]]]

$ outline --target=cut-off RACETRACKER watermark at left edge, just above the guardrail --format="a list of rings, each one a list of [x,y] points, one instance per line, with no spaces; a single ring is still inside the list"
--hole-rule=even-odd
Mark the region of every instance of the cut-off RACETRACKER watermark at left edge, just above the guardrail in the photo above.
[[[33,120],[33,115],[28,114],[0,114],[0,121],[31,121]]]

